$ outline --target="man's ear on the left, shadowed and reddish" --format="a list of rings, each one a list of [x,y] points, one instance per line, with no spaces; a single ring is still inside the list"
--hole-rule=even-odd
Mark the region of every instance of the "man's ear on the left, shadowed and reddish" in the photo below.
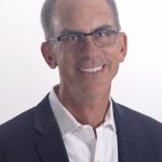
[[[53,53],[52,44],[50,42],[43,42],[41,45],[41,52],[46,64],[52,69],[56,68],[57,64],[56,64],[55,54]]]

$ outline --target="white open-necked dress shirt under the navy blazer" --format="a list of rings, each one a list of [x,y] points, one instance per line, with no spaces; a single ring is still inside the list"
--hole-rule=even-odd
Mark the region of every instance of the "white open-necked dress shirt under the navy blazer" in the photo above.
[[[62,105],[53,90],[49,99],[70,162],[118,162],[118,141],[111,99],[105,122],[96,129],[97,139],[93,127],[79,123]]]

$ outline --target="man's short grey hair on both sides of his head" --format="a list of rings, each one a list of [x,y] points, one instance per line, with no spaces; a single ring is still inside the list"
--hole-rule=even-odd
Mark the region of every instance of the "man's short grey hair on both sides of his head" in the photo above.
[[[112,10],[114,23],[119,29],[121,29],[117,3],[114,0],[106,0]],[[45,0],[41,10],[41,23],[45,35],[45,40],[49,40],[53,36],[52,16],[55,8],[56,0]]]

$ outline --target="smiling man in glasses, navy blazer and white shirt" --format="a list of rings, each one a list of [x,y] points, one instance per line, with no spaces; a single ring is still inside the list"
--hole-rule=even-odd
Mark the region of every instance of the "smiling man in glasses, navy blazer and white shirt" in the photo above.
[[[126,55],[113,0],[46,0],[42,54],[60,82],[0,126],[0,162],[162,162],[162,124],[110,98]]]

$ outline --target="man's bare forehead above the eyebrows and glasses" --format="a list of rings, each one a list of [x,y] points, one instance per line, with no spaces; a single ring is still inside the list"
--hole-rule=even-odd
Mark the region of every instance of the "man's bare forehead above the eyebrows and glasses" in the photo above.
[[[60,30],[67,28],[89,32],[105,24],[114,26],[106,0],[57,0],[55,13]]]

